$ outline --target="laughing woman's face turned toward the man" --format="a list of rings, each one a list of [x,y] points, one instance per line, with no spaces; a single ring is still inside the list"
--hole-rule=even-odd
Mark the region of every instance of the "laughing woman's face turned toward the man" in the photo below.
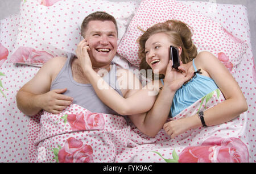
[[[160,32],[150,36],[145,43],[146,62],[153,73],[166,74],[170,60],[170,42],[167,34]]]

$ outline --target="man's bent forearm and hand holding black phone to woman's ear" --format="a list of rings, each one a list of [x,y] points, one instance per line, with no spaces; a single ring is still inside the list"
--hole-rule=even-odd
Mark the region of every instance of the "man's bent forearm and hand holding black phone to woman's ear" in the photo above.
[[[144,134],[148,136],[155,136],[166,123],[168,115],[171,110],[172,100],[177,89],[179,89],[184,82],[188,81],[192,76],[192,72],[185,72],[181,67],[177,72],[171,68],[171,62],[168,64],[166,76],[164,78],[164,85],[160,94],[155,101],[154,106],[146,114],[130,115],[129,118]],[[158,81],[159,82],[159,81]],[[156,84],[155,88],[159,86]]]

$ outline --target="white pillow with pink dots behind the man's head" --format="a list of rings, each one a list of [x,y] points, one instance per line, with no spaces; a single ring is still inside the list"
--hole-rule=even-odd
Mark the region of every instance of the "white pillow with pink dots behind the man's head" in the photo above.
[[[106,0],[27,0],[20,3],[20,21],[12,63],[41,66],[55,56],[75,53],[84,18],[96,11],[115,17],[121,40],[138,4]]]

